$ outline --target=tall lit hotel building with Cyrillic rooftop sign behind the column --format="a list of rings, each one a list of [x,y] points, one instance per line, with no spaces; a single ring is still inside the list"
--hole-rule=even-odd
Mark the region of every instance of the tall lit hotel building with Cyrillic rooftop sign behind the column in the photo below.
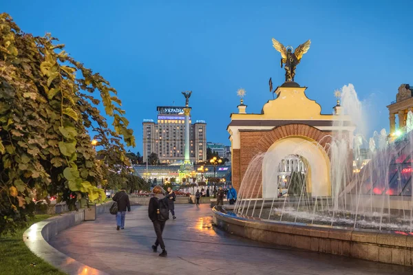
[[[157,121],[144,120],[143,162],[156,153],[161,164],[184,162],[184,107],[157,107]],[[189,118],[189,150],[193,163],[207,159],[207,123]]]

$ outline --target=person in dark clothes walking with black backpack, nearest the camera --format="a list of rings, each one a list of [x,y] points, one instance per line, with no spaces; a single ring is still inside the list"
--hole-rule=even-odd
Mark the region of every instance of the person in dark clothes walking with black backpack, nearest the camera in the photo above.
[[[162,239],[162,232],[165,228],[165,223],[169,219],[169,203],[165,201],[165,196],[162,194],[162,188],[160,186],[155,186],[152,190],[154,196],[149,200],[148,214],[149,219],[153,223],[153,229],[156,234],[155,244],[152,245],[153,252],[158,250],[158,245],[162,249],[162,253],[159,254],[161,257],[166,257],[168,255],[167,250],[165,250],[165,243]]]

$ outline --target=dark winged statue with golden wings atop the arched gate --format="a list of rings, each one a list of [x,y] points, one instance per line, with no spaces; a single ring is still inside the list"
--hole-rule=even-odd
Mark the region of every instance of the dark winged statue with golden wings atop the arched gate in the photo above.
[[[311,41],[308,40],[307,42],[299,45],[293,53],[293,47],[284,47],[282,43],[279,43],[273,39],[273,47],[281,53],[281,67],[285,64],[284,69],[286,69],[286,82],[294,82],[295,67],[299,64],[299,61],[301,61],[303,55],[308,52],[308,49],[310,49],[310,44]]]

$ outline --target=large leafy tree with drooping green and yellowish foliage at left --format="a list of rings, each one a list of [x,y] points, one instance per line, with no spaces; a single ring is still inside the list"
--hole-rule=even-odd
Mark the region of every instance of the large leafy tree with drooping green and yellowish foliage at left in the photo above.
[[[130,166],[123,144],[135,140],[116,89],[56,41],[0,14],[0,234],[25,224],[34,193],[98,201],[105,175]]]

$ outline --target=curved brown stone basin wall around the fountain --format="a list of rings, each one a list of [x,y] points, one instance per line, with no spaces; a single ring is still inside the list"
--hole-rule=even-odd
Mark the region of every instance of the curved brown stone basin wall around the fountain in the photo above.
[[[232,206],[215,206],[213,223],[237,236],[315,252],[413,266],[413,235],[406,232],[250,219],[233,214],[232,209]]]

